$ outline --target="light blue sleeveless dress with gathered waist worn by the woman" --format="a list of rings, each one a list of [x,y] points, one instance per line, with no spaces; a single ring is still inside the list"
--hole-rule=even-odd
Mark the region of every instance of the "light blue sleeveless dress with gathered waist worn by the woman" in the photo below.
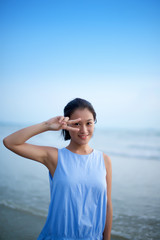
[[[51,201],[38,240],[102,240],[107,205],[103,153],[80,155],[59,149],[49,179]]]

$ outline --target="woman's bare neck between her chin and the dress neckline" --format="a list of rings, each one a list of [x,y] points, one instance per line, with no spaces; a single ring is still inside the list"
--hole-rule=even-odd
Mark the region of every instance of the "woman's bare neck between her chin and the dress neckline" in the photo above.
[[[78,145],[72,141],[67,146],[67,149],[78,154],[90,154],[93,151],[93,149],[88,144]]]

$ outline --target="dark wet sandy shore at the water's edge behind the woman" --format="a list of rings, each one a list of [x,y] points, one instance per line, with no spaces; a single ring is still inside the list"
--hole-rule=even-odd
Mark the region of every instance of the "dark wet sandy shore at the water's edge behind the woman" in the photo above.
[[[45,224],[46,217],[0,205],[0,240],[36,240]],[[112,240],[125,240],[113,236]]]

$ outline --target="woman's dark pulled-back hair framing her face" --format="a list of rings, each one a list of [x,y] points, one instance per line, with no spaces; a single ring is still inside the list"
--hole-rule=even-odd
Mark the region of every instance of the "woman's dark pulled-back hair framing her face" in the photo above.
[[[79,109],[87,108],[93,114],[94,121],[97,122],[96,112],[95,112],[92,104],[90,102],[88,102],[87,100],[81,99],[81,98],[75,98],[65,106],[64,117],[70,118],[71,115],[74,113],[74,111],[77,110],[78,108]],[[69,131],[67,131],[65,129],[62,129],[62,135],[63,135],[65,141],[71,139]]]

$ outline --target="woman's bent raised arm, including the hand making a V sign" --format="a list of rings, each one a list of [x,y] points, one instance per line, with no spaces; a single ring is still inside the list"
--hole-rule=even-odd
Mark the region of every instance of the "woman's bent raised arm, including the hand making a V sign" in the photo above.
[[[26,141],[31,137],[48,130],[58,131],[60,129],[66,129],[77,131],[75,128],[68,126],[73,121],[78,122],[79,119],[69,120],[68,117],[63,116],[51,118],[48,121],[35,124],[12,133],[3,139],[3,143],[14,153],[22,157],[38,161],[50,169],[51,165],[54,165],[57,160],[57,149],[53,147],[28,144]]]

